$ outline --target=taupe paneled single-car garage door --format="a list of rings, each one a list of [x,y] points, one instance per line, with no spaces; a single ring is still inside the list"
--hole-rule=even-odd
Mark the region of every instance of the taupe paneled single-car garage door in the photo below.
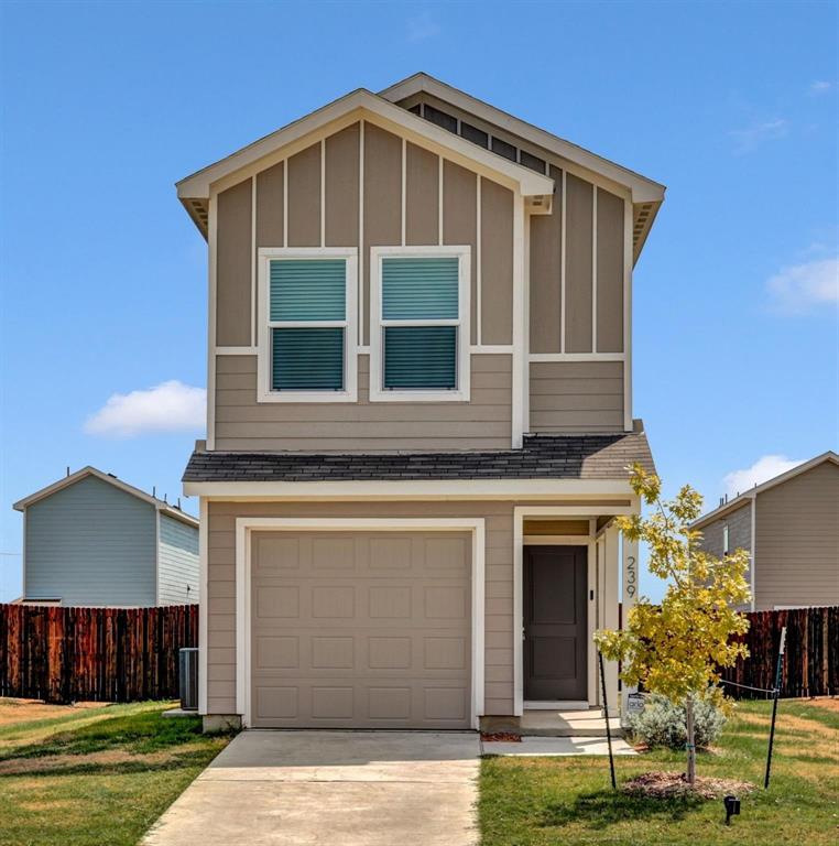
[[[468,728],[471,536],[254,532],[251,725]]]

